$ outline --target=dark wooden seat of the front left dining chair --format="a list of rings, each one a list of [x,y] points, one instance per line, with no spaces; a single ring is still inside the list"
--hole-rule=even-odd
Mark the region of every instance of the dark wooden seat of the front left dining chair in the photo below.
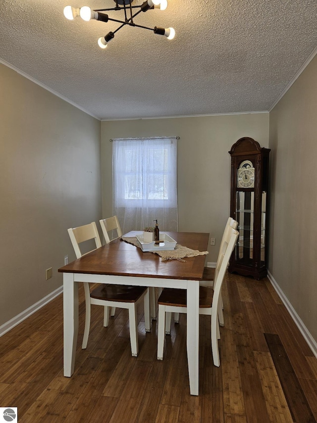
[[[90,296],[97,300],[115,302],[137,302],[146,292],[147,287],[132,287],[126,285],[98,285]]]

